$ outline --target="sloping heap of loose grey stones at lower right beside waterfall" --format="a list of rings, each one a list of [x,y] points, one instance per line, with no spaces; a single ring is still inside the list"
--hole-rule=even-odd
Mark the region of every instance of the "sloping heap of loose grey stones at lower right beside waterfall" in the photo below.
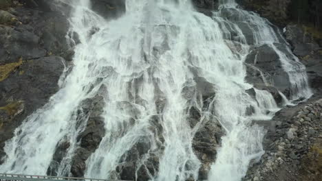
[[[321,180],[321,98],[277,112],[272,119],[275,129],[264,141],[266,153],[244,180]]]

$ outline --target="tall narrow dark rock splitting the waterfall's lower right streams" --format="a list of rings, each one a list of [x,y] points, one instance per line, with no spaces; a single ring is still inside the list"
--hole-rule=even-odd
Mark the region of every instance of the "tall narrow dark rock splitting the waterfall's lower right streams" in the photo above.
[[[208,82],[204,77],[196,76],[195,84],[189,84],[182,89],[182,96],[191,101],[187,117],[191,129],[195,129],[193,136],[193,152],[201,161],[199,180],[206,180],[211,164],[217,156],[217,147],[220,145],[221,137],[224,135],[222,125],[215,118],[215,112],[211,112],[215,97],[215,85]],[[193,102],[195,99],[202,101],[201,105]],[[199,102],[199,101],[197,101]]]

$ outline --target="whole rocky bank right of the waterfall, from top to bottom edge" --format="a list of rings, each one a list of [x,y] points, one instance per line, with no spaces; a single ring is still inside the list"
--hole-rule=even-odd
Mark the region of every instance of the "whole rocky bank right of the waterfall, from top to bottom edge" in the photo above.
[[[292,108],[283,108],[268,126],[266,154],[250,167],[245,180],[312,180],[322,178],[322,29],[320,1],[240,0],[248,10],[266,17],[283,31],[292,51],[305,65],[314,96]],[[315,5],[315,6],[314,6]],[[301,12],[308,14],[306,18]],[[297,12],[294,14],[294,12]],[[253,179],[252,179],[253,178]]]

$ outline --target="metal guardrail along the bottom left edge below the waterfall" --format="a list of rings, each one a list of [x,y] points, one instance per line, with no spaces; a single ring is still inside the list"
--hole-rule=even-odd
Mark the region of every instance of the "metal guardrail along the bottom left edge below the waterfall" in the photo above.
[[[56,177],[56,176],[32,176],[19,175],[11,173],[0,173],[0,181],[129,181],[129,180],[105,180],[96,178],[72,178],[72,177]]]

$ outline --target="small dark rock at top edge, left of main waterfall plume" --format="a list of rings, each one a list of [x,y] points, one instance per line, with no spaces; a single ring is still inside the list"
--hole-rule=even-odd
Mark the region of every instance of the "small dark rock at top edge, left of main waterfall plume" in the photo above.
[[[106,19],[113,19],[125,12],[125,0],[92,0],[92,8]]]

